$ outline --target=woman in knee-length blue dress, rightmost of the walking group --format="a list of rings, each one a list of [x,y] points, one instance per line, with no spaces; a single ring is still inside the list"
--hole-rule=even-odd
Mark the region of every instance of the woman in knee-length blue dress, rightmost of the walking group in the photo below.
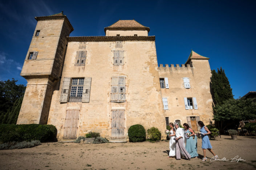
[[[202,149],[203,149],[203,153],[204,153],[204,157],[203,157],[202,161],[207,160],[206,149],[208,149],[214,155],[214,157],[212,157],[212,159],[217,159],[218,155],[215,155],[214,152],[212,151],[212,145],[211,145],[209,137],[208,137],[208,135],[210,135],[211,132],[209,131],[209,129],[206,126],[204,126],[204,123],[202,121],[198,121],[198,124],[201,127],[200,132],[201,132],[201,136],[202,136]]]

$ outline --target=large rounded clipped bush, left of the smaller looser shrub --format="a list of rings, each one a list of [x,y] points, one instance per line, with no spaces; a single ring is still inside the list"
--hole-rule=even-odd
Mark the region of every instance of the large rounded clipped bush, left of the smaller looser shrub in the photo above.
[[[143,142],[146,140],[145,128],[140,124],[135,124],[128,129],[129,142]]]

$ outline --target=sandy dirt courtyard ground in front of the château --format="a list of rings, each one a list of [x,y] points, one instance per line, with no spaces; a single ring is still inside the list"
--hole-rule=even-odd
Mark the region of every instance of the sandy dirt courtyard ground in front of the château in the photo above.
[[[256,169],[256,137],[221,136],[211,140],[219,160],[203,162],[202,140],[198,139],[198,159],[167,158],[169,141],[150,143],[43,143],[33,148],[0,150],[1,170],[169,170],[169,169]]]

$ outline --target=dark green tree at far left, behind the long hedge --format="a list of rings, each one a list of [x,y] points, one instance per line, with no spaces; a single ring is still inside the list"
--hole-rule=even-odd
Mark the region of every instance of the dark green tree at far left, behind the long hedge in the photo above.
[[[0,81],[0,123],[16,124],[26,87],[18,80]]]

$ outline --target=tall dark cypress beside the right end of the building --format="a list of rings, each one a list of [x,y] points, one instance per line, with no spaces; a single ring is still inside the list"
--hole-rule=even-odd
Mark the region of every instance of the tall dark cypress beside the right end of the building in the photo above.
[[[211,92],[214,97],[214,105],[221,105],[227,99],[233,99],[232,89],[228,78],[221,67],[220,69],[218,68],[218,72],[212,70]]]

